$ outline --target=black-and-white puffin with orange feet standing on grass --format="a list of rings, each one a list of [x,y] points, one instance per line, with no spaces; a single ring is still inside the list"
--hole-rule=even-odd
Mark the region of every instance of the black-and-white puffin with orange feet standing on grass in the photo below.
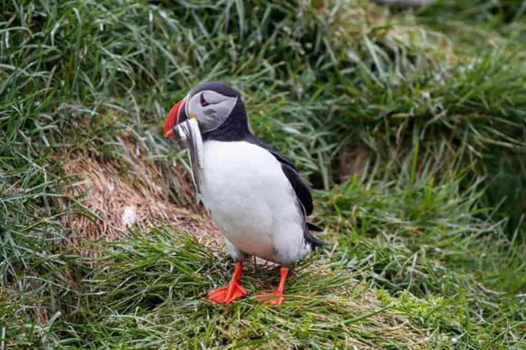
[[[239,282],[243,263],[257,256],[280,265],[278,287],[257,299],[279,305],[290,264],[326,245],[310,233],[323,230],[307,221],[313,210],[309,187],[288,157],[250,131],[241,94],[230,85],[191,88],[166,116],[165,137],[176,136],[177,126],[191,119],[203,142],[203,168],[194,183],[235,262],[230,283],[207,298],[229,304],[247,295]]]

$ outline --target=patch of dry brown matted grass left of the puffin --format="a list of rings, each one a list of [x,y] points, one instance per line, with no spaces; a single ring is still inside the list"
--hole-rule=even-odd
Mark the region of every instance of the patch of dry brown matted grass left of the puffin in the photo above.
[[[66,188],[70,201],[64,204],[76,203],[78,214],[64,216],[62,224],[72,230],[71,242],[113,241],[129,226],[147,229],[154,221],[198,237],[218,236],[209,217],[170,202],[160,169],[146,162],[138,165],[141,176],[124,176],[115,163],[100,163],[80,154],[69,159],[64,170],[77,181]],[[174,171],[173,175],[178,174]]]

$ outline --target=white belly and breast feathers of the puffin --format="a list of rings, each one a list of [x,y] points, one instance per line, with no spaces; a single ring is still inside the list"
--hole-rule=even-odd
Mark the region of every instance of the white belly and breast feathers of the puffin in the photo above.
[[[266,149],[206,141],[201,191],[215,225],[242,252],[288,264],[310,250],[294,189]]]

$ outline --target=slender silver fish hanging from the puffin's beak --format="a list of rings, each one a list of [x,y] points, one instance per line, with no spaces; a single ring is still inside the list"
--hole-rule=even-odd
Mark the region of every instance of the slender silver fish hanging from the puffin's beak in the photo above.
[[[199,124],[196,119],[187,119],[176,126],[181,143],[188,151],[190,164],[192,167],[192,180],[196,188],[197,203],[201,200],[201,178],[203,176],[204,156],[203,156],[203,138],[199,131]]]

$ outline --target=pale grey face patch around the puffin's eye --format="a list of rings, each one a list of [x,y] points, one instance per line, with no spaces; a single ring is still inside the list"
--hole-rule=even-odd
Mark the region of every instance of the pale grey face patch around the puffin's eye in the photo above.
[[[186,114],[197,118],[201,132],[212,131],[226,121],[237,99],[211,90],[201,91],[187,101]]]

